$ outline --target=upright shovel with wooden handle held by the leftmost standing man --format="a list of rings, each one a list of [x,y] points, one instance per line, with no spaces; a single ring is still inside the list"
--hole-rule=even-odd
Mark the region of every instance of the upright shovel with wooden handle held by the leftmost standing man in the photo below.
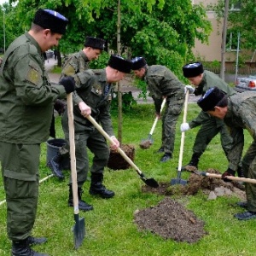
[[[73,93],[67,94],[67,115],[70,143],[70,161],[71,161],[71,177],[73,190],[73,216],[75,224],[73,226],[74,247],[77,249],[83,242],[85,236],[84,218],[79,218],[79,195],[77,182],[77,167],[74,143],[74,126],[73,126]]]

